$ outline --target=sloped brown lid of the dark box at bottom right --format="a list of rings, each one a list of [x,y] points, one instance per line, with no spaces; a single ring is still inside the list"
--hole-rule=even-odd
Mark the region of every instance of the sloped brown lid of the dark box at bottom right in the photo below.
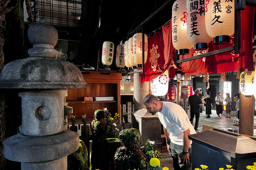
[[[256,141],[222,129],[214,128],[213,130],[190,134],[189,139],[232,158],[256,155]]]

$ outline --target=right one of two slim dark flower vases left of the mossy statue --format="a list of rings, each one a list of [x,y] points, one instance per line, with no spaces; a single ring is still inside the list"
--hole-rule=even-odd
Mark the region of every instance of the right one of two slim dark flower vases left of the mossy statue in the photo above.
[[[88,157],[90,157],[90,127],[87,125],[87,121],[89,120],[88,117],[86,117],[86,114],[82,115],[82,123],[81,126],[81,140],[84,142],[85,146],[87,147],[87,154]],[[90,159],[88,159],[87,165],[90,166]]]

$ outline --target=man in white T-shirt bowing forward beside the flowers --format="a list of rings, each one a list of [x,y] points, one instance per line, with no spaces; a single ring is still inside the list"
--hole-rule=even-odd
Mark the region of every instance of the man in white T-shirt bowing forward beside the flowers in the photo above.
[[[142,103],[147,112],[157,115],[164,128],[167,150],[173,158],[173,167],[191,169],[191,142],[189,134],[196,131],[184,109],[175,103],[159,101],[154,95],[147,95]]]

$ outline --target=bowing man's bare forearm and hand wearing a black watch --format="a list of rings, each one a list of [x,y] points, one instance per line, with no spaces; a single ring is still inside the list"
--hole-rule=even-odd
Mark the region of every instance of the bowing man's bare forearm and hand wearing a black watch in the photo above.
[[[183,139],[183,151],[188,151],[190,140],[188,139],[188,135],[190,134],[190,130],[186,130],[182,133]],[[189,160],[189,154],[184,154],[183,151],[180,153],[179,157],[181,158],[182,164],[187,164]]]

